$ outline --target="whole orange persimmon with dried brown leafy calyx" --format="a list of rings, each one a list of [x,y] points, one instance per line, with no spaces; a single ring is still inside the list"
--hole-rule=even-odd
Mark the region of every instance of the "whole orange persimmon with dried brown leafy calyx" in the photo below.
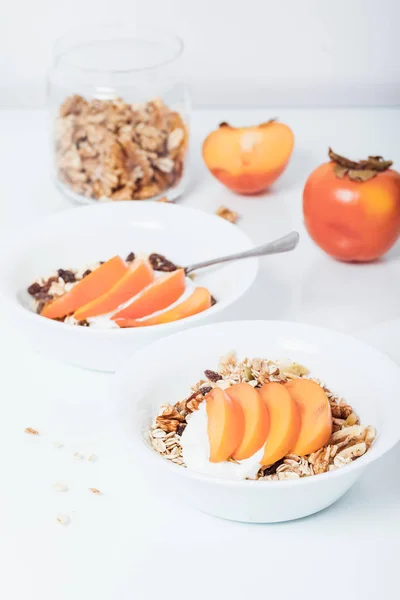
[[[355,162],[329,149],[329,158],[304,187],[307,231],[338,260],[375,260],[400,235],[400,173],[381,156]]]

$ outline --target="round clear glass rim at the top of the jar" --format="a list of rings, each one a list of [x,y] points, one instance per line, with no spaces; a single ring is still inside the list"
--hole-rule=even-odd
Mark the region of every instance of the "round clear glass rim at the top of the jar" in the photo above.
[[[98,32],[98,35],[95,36],[93,35],[93,32]],[[77,65],[74,64],[73,62],[69,63],[68,60],[66,60],[66,66],[68,66],[69,68],[73,68],[76,71],[79,72],[83,72],[83,73],[92,73],[92,74],[96,74],[96,73],[106,73],[106,72],[113,72],[115,74],[119,74],[119,75],[128,75],[130,73],[140,73],[140,72],[145,72],[145,71],[150,71],[150,70],[156,70],[156,69],[160,69],[162,67],[165,67],[166,65],[176,61],[183,53],[184,50],[184,42],[182,40],[182,38],[180,38],[178,35],[176,35],[173,32],[170,32],[168,30],[163,30],[163,29],[158,29],[155,27],[149,27],[149,26],[132,26],[129,25],[127,26],[126,24],[121,24],[121,23],[107,23],[107,24],[99,24],[96,25],[95,28],[93,28],[93,26],[89,26],[89,25],[82,25],[79,28],[73,28],[71,30],[69,30],[69,32],[66,32],[65,34],[63,34],[62,36],[58,37],[54,43],[53,46],[53,56],[54,56],[54,63],[55,65],[57,65],[62,59],[65,60],[66,57],[68,56],[69,53],[71,53],[73,50],[76,50],[79,46],[84,46],[84,45],[88,45],[89,43],[101,43],[101,42],[107,42],[107,41],[111,41],[107,40],[107,38],[102,38],[101,37],[101,33],[103,33],[103,35],[106,32],[112,32],[115,31],[116,33],[116,37],[117,34],[121,34],[122,32],[125,32],[127,35],[123,38],[123,39],[130,39],[130,40],[134,40],[134,39],[143,39],[146,37],[146,34],[149,34],[150,36],[159,36],[159,41],[164,41],[164,42],[168,42],[169,44],[173,45],[174,48],[171,49],[170,55],[167,56],[166,58],[164,58],[161,61],[157,61],[154,63],[150,63],[147,64],[145,66],[139,66],[139,67],[128,67],[128,68],[104,68],[104,67],[85,67],[82,65]],[[88,34],[88,32],[90,32]],[[80,38],[80,34],[82,34],[82,37]],[[86,34],[86,35],[85,35]],[[76,40],[74,43],[74,39]],[[122,39],[122,38],[121,38]]]

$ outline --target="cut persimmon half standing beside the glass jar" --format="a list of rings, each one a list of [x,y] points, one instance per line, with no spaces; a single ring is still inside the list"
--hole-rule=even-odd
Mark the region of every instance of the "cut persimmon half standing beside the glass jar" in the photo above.
[[[283,173],[294,145],[290,127],[276,120],[254,127],[221,123],[203,143],[203,158],[221,183],[239,194],[266,190]]]

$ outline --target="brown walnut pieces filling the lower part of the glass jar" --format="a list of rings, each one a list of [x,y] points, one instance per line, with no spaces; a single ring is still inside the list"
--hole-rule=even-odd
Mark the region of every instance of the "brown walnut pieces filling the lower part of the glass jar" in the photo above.
[[[55,123],[57,176],[97,200],[144,200],[178,185],[188,145],[181,115],[162,100],[129,104],[74,95]]]

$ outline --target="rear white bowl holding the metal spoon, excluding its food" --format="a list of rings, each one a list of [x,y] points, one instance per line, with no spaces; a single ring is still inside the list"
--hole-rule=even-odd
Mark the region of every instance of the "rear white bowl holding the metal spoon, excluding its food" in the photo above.
[[[114,254],[157,252],[180,265],[246,250],[238,227],[174,204],[132,202],[74,208],[11,232],[0,242],[1,310],[31,345],[70,363],[113,371],[135,350],[194,323],[212,321],[254,281],[258,261],[248,259],[198,272],[195,283],[217,299],[209,310],[174,323],[137,329],[74,327],[27,308],[28,285],[57,268],[82,267]]]

